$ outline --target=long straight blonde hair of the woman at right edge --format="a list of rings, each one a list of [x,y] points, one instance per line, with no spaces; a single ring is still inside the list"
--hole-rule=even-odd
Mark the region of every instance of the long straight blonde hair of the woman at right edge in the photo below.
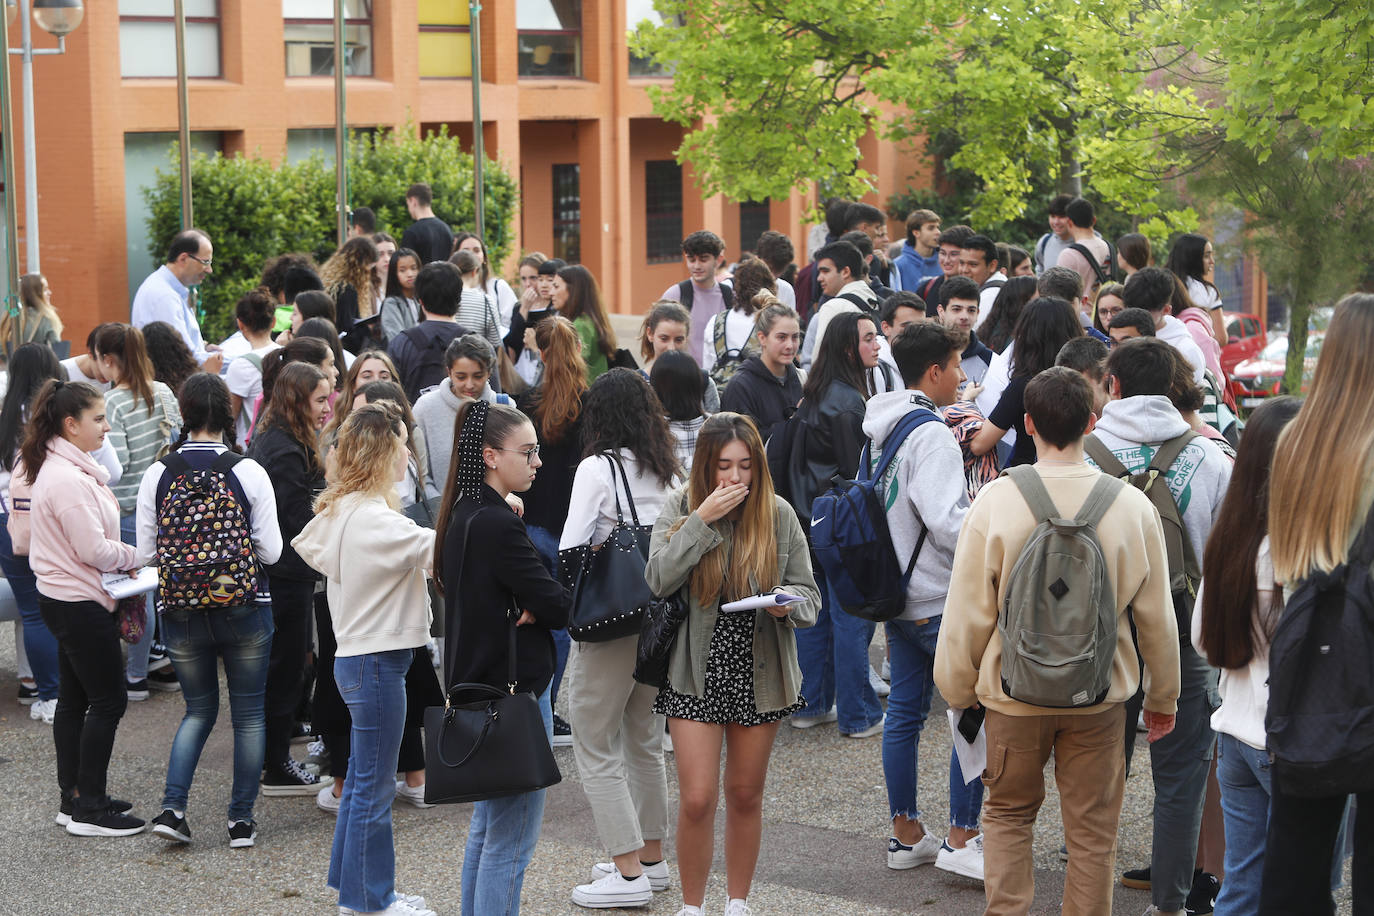
[[[1374,295],[1336,304],[1312,389],[1279,437],[1270,478],[1274,574],[1297,582],[1345,562],[1374,455]],[[1314,467],[1334,468],[1318,483]]]

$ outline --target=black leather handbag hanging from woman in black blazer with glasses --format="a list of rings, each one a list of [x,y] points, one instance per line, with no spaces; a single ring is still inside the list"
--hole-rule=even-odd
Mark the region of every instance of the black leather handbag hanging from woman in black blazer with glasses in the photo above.
[[[464,552],[473,516],[475,512],[463,529]],[[456,582],[462,582],[462,571],[459,560]],[[430,805],[521,795],[563,779],[539,700],[533,694],[515,691],[517,617],[513,604],[507,610],[507,689],[455,684],[442,706],[425,710],[425,801]]]

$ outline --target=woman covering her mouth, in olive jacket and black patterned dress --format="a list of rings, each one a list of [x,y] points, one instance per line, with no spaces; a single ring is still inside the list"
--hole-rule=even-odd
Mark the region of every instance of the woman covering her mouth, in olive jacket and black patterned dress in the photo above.
[[[774,494],[763,439],[747,417],[716,413],[702,426],[691,478],[654,523],[644,578],[655,595],[680,589],[688,606],[654,703],[669,717],[677,755],[679,916],[702,913],[723,743],[725,916],[747,916],[768,757],[778,722],[802,702],[794,630],[811,626],[820,607],[805,533]],[[805,600],[721,612],[721,604],[774,591]]]

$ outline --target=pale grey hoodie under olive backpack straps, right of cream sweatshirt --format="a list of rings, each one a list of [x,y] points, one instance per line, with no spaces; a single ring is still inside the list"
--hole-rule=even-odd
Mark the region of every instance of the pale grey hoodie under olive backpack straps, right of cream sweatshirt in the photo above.
[[[1094,435],[1134,474],[1149,467],[1161,442],[1187,431],[1187,420],[1173,409],[1169,398],[1140,394],[1109,401]],[[1092,463],[1091,459],[1088,463]],[[1165,477],[1183,515],[1193,552],[1201,562],[1221,497],[1231,482],[1231,461],[1213,442],[1198,437],[1189,442]]]

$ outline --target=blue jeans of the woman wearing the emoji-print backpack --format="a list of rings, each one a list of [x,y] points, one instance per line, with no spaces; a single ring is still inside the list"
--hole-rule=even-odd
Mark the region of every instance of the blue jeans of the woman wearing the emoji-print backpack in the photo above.
[[[220,713],[216,659],[223,658],[234,722],[229,820],[251,820],[267,750],[262,699],[267,692],[267,659],[272,652],[272,607],[245,604],[217,611],[169,610],[162,612],[162,634],[185,699],[185,717],[172,739],[162,808],[179,812],[187,808],[195,765]]]

